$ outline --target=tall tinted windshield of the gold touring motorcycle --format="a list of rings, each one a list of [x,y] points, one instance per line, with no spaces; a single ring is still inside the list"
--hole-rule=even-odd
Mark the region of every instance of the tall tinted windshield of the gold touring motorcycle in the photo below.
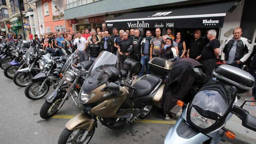
[[[97,79],[97,81],[106,81],[111,77],[116,61],[116,55],[108,51],[103,51],[90,67],[89,75]]]

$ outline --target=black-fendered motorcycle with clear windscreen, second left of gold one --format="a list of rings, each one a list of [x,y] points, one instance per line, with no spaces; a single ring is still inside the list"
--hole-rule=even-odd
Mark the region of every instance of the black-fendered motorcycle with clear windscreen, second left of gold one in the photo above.
[[[29,99],[40,99],[44,97],[50,88],[62,79],[59,74],[64,63],[59,60],[59,56],[53,57],[49,53],[46,54],[39,63],[40,73],[35,75],[25,88],[25,95]]]

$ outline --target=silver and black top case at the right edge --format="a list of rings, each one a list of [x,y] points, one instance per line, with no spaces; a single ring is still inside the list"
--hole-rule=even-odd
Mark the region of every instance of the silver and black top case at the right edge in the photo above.
[[[248,72],[231,65],[220,65],[213,75],[221,82],[235,86],[239,93],[246,93],[254,87],[254,78]]]

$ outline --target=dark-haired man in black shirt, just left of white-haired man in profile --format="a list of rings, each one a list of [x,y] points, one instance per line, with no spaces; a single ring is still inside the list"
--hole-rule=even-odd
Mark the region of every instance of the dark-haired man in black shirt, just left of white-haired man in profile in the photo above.
[[[196,59],[201,55],[202,50],[205,47],[205,40],[200,38],[201,31],[199,29],[194,32],[194,39],[189,42],[188,54],[189,58]]]

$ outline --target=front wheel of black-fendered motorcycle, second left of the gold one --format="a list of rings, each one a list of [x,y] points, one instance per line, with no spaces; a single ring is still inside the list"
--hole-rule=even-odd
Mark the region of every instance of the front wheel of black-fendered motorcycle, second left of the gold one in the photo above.
[[[26,97],[33,100],[44,97],[48,93],[50,85],[46,82],[42,87],[41,91],[39,91],[41,85],[42,82],[29,82],[29,84],[25,88]]]

